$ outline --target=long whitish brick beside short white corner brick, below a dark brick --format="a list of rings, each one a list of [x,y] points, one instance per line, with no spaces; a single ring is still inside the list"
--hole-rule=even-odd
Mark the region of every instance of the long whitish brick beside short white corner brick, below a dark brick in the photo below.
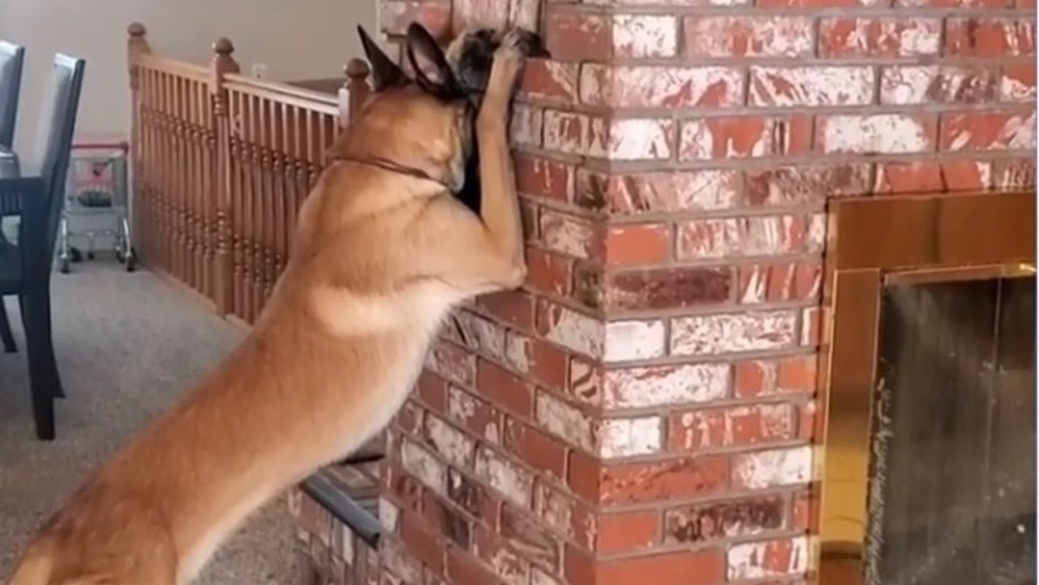
[[[698,315],[671,321],[671,353],[712,355],[793,347],[794,311]]]

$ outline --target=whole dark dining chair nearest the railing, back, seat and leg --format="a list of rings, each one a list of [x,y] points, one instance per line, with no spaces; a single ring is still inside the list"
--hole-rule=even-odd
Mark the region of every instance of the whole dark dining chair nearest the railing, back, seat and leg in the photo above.
[[[54,438],[54,399],[64,395],[51,333],[51,273],[65,174],[83,86],[82,59],[57,55],[36,138],[39,172],[0,178],[0,215],[18,215],[18,242],[0,242],[0,296],[18,295],[25,328],[36,436]]]

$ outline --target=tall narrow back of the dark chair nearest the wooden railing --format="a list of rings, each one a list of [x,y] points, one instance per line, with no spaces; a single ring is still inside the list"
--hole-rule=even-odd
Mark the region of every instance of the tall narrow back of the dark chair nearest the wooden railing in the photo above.
[[[46,252],[41,261],[47,262],[47,274],[54,258],[54,243],[57,239],[61,207],[64,205],[65,175],[72,156],[73,135],[76,131],[76,114],[83,87],[83,72],[86,61],[68,55],[57,54],[51,69],[51,79],[44,98],[39,128],[36,134],[35,156],[39,161],[39,174],[46,184],[45,200],[38,202],[43,238],[41,252]],[[20,235],[21,235],[20,231]],[[39,240],[37,240],[39,241]]]

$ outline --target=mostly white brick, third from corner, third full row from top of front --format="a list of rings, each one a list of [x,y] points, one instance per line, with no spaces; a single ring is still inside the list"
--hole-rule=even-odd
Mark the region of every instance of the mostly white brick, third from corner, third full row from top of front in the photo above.
[[[831,115],[817,124],[826,153],[923,153],[933,140],[933,131],[907,114]]]

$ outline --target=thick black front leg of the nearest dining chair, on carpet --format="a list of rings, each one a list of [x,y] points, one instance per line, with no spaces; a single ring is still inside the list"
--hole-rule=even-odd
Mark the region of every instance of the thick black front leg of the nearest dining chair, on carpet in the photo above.
[[[29,388],[32,393],[32,417],[36,423],[36,437],[41,441],[53,441],[54,429],[54,398],[58,389],[54,388],[57,380],[57,366],[53,349],[48,343],[46,313],[50,311],[47,304],[47,294],[41,294],[38,287],[21,295],[22,316],[25,323],[25,344],[29,362]]]

